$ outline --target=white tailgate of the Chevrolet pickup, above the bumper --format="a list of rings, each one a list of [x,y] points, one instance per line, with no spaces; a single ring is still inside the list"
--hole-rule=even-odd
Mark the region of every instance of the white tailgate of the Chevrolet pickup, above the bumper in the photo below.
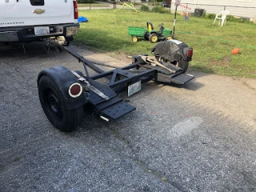
[[[0,1],[0,27],[74,22],[72,0]]]

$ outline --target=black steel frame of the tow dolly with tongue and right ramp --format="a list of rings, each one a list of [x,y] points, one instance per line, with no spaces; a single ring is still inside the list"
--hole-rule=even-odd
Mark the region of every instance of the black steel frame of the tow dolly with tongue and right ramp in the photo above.
[[[93,62],[90,62],[86,58],[83,58],[81,55],[74,52],[74,50],[70,50],[66,46],[61,46],[61,48],[63,50],[66,50],[66,52],[71,54],[74,58],[77,58],[78,62],[82,62],[84,69],[86,71],[86,77],[91,78],[93,80],[97,80],[99,78],[110,78],[110,82],[108,83],[108,86],[110,86],[110,88],[114,90],[118,86],[121,86],[126,83],[130,83],[130,82],[142,81],[142,83],[145,83],[154,79],[155,81],[158,81],[158,82],[169,82],[169,83],[174,82],[176,84],[184,84],[194,78],[194,76],[190,74],[183,74],[180,68],[174,67],[174,66],[171,67],[171,69],[174,70],[174,74],[169,74],[169,75],[158,74],[158,72],[159,71],[161,72],[162,70],[161,67],[145,65],[146,62],[144,62],[141,59],[141,55],[135,55],[133,57],[133,63],[128,66],[123,66],[110,71],[104,71],[98,68],[98,66],[96,66]],[[95,72],[97,72],[98,74],[90,76],[87,70],[87,66],[90,67],[91,70],[94,70]],[[110,66],[110,67],[115,68],[115,66]],[[118,76],[122,76],[123,77],[122,80],[117,80]],[[123,90],[119,90],[119,91],[116,90],[115,92],[121,93],[122,91]]]

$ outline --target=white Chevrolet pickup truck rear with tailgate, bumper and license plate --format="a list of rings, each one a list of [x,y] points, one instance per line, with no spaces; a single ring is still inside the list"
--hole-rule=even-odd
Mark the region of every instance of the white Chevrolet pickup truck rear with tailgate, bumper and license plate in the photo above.
[[[0,42],[34,42],[78,33],[75,0],[0,0]]]

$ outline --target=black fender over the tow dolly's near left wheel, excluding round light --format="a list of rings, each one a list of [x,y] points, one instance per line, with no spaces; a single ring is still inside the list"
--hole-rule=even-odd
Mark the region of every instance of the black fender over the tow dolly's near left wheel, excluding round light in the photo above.
[[[76,78],[65,66],[54,66],[49,69],[42,70],[38,74],[38,82],[42,75],[47,75],[58,85],[59,90],[62,92],[67,110],[74,110],[88,102],[84,91],[82,91],[82,94],[78,98],[72,98],[70,94],[68,94],[70,85],[74,82],[78,82],[78,78]]]

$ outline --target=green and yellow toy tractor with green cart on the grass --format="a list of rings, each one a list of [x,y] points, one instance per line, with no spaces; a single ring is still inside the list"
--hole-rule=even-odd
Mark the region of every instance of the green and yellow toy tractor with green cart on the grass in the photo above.
[[[150,42],[158,42],[172,39],[172,31],[163,27],[163,23],[159,25],[159,30],[154,30],[151,22],[146,22],[147,29],[143,27],[128,26],[128,34],[131,35],[133,42],[138,42],[138,38],[142,37]]]

